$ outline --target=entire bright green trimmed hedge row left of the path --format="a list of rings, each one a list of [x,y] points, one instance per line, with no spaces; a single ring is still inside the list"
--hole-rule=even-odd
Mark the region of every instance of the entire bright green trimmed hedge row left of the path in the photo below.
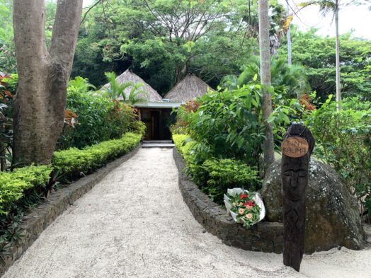
[[[141,139],[142,134],[127,132],[121,139],[103,141],[81,150],[55,151],[51,166],[28,166],[13,172],[0,172],[0,215],[11,212],[11,205],[25,197],[26,190],[46,187],[53,169],[64,180],[71,181],[129,153]]]

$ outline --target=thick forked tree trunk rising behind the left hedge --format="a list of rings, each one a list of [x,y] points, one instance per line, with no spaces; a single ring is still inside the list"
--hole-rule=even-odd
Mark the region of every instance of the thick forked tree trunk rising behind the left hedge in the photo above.
[[[18,91],[13,162],[48,164],[63,127],[82,0],[58,0],[50,51],[45,46],[45,0],[14,0]]]

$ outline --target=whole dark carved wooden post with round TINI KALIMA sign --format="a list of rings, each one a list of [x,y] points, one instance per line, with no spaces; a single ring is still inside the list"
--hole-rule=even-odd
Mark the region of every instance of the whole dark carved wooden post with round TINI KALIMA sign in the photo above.
[[[297,272],[304,254],[305,196],[314,138],[307,127],[292,124],[282,142],[283,264]]]

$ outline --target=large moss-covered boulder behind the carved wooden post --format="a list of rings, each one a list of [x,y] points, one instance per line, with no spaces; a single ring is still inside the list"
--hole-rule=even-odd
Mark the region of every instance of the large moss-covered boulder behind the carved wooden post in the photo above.
[[[266,172],[262,196],[266,221],[282,222],[281,161]],[[305,252],[337,246],[359,250],[365,247],[365,231],[358,203],[331,167],[312,159],[307,187]]]

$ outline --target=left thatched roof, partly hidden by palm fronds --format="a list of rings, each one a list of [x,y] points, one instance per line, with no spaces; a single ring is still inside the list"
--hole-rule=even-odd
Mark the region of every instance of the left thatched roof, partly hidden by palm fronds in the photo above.
[[[130,69],[127,69],[126,71],[124,71],[123,74],[121,74],[120,76],[116,77],[116,81],[118,83],[127,83],[127,82],[143,83],[144,85],[142,87],[138,88],[138,90],[144,90],[144,91],[146,91],[147,92],[147,95],[139,94],[138,95],[139,98],[147,99],[147,101],[150,101],[150,102],[162,101],[161,95],[159,95],[159,93],[157,93],[157,91],[154,90],[154,88],[152,88],[151,86],[149,86],[149,84],[147,84],[146,82],[144,82],[143,79],[141,79],[139,76],[137,76],[137,74],[135,74],[134,72],[132,72]],[[105,84],[103,87],[109,88],[110,87],[110,83]],[[130,87],[128,87],[128,88],[125,89],[125,95],[127,95],[127,97],[130,94],[131,88],[132,88],[132,86],[130,86]],[[122,97],[119,98],[119,100],[122,100]]]

